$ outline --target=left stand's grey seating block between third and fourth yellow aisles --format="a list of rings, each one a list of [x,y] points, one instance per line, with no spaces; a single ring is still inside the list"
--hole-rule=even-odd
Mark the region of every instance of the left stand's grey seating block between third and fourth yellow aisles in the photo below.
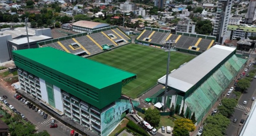
[[[94,33],[94,34],[90,34],[90,37],[95,40],[99,45],[114,45],[113,42],[111,42],[111,40],[109,40],[107,37],[105,37],[102,33]]]

